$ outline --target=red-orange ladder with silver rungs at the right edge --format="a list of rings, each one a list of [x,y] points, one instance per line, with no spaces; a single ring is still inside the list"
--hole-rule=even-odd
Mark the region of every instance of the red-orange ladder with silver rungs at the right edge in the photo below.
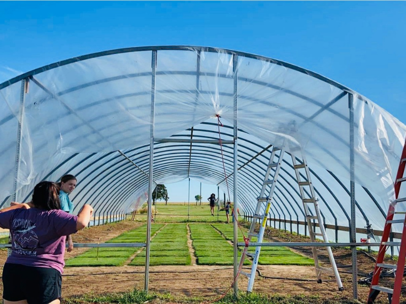
[[[368,304],[374,303],[378,294],[383,291],[388,293],[389,303],[391,304],[399,304],[400,300],[400,292],[402,288],[402,281],[403,281],[403,272],[404,272],[404,263],[406,258],[406,212],[396,212],[396,204],[397,203],[406,203],[406,198],[398,198],[400,185],[403,181],[406,181],[406,177],[403,177],[404,174],[404,167],[406,165],[406,142],[403,145],[402,156],[400,157],[399,168],[397,170],[396,180],[395,180],[395,201],[390,204],[388,215],[386,216],[385,227],[382,235],[381,246],[379,246],[379,252],[377,257],[377,263],[375,265],[374,275],[371,281],[371,287],[369,289],[368,294]],[[402,214],[401,219],[393,219],[395,214]],[[402,238],[400,240],[400,248],[399,248],[399,258],[397,260],[397,265],[392,264],[384,264],[384,257],[386,250],[389,246],[398,245],[395,242],[388,242],[389,234],[391,232],[392,224],[394,223],[402,223],[403,230],[402,230]],[[381,271],[383,268],[389,268],[395,270],[395,282],[392,288],[379,286],[379,278],[381,275]]]

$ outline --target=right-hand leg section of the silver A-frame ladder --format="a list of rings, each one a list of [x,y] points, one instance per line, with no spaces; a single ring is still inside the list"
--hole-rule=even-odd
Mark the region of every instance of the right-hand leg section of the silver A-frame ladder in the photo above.
[[[310,240],[311,240],[311,242],[315,242],[316,237],[319,236],[323,239],[324,243],[328,243],[326,230],[324,228],[323,219],[322,219],[320,208],[319,208],[319,203],[318,203],[319,200],[316,197],[316,193],[315,193],[312,179],[310,176],[309,166],[306,162],[306,157],[304,157],[304,155],[302,153],[302,155],[301,155],[302,161],[298,162],[296,160],[296,157],[293,154],[291,154],[291,156],[292,156],[293,169],[295,170],[297,183],[298,183],[299,189],[300,189],[301,200],[303,202],[304,214],[306,216],[306,221],[307,221],[307,225],[309,228]],[[314,215],[312,215],[312,214],[314,214]],[[313,224],[312,224],[312,220],[313,220]],[[318,224],[318,225],[316,225],[316,224]],[[318,232],[315,232],[314,230],[317,230],[317,229],[318,229]],[[331,247],[326,247],[325,250],[320,250],[320,249],[317,249],[316,247],[312,247],[312,251],[313,251],[313,258],[314,258],[314,263],[315,263],[315,268],[316,268],[317,282],[318,283],[322,282],[321,274],[323,272],[328,273],[328,274],[333,274],[335,277],[335,280],[337,282],[337,285],[339,287],[339,290],[343,291],[344,290],[343,283],[341,282],[340,274],[339,274],[339,271],[337,270],[337,266],[335,264],[335,260],[334,260],[333,253],[331,251]],[[331,268],[326,268],[326,267],[320,266],[320,264],[319,264],[319,254],[320,253],[328,254]]]

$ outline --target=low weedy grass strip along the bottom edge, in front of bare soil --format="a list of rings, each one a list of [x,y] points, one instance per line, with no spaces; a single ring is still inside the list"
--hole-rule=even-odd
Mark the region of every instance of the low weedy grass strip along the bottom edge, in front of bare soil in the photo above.
[[[202,298],[202,297],[176,297],[171,294],[159,294],[149,292],[148,294],[142,290],[133,290],[124,293],[114,293],[105,295],[83,295],[64,298],[66,304],[141,304],[146,302],[151,303],[201,303],[205,301],[216,300],[220,296]],[[228,293],[223,298],[215,303],[238,303],[238,304],[355,304],[359,303],[357,300],[341,297],[335,295],[331,298],[321,298],[316,295],[280,295],[280,294],[260,294],[260,293],[246,293],[241,291],[238,299],[235,299],[232,293]]]

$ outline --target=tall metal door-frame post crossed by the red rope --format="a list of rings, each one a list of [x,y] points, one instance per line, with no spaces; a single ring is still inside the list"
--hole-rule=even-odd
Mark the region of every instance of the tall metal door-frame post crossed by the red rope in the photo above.
[[[234,167],[233,167],[233,177],[234,177],[234,182],[233,182],[233,201],[234,201],[234,215],[235,215],[235,220],[233,222],[233,242],[234,242],[234,297],[238,295],[238,199],[237,199],[237,188],[238,188],[238,70],[237,70],[237,64],[238,64],[238,55],[233,54],[232,55],[232,68],[234,72]]]

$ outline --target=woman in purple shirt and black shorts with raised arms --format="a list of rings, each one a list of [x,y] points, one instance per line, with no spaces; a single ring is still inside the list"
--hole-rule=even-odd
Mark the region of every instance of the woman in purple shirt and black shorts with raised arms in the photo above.
[[[12,253],[3,269],[4,304],[59,304],[66,236],[87,226],[93,208],[79,214],[60,210],[59,187],[37,184],[32,208],[0,213],[0,227],[10,229]]]

